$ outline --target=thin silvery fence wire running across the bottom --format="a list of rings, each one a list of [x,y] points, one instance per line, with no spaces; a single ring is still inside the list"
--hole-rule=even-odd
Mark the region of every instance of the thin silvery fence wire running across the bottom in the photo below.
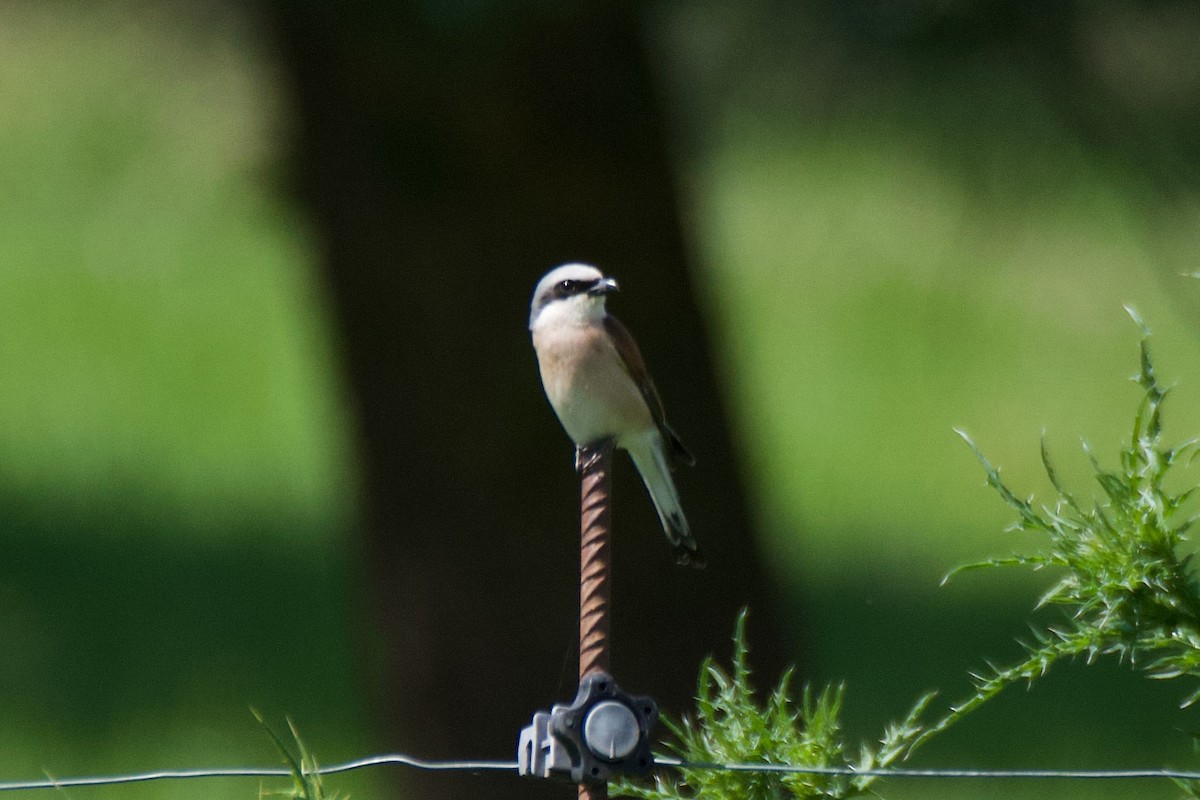
[[[419,770],[448,772],[517,772],[516,762],[490,760],[428,760],[391,753],[388,756],[368,756],[352,762],[320,766],[307,772],[310,775],[337,775],[366,769],[368,766],[400,765]],[[1062,781],[1130,781],[1130,780],[1166,780],[1200,781],[1200,771],[1172,769],[1134,769],[1134,770],[974,770],[974,769],[854,769],[851,766],[805,766],[803,764],[744,764],[744,763],[708,763],[685,762],[677,758],[656,758],[655,766],[662,769],[686,769],[701,771],[726,772],[775,772],[794,775],[829,775],[841,777],[877,777],[877,778],[930,778],[930,780],[1062,780]],[[24,792],[35,789],[66,789],[79,787],[116,786],[122,783],[146,783],[150,781],[178,781],[198,778],[233,777],[292,777],[292,771],[282,766],[246,766],[218,769],[158,770],[152,772],[133,772],[128,775],[98,775],[90,777],[48,777],[37,781],[4,781],[0,792]]]

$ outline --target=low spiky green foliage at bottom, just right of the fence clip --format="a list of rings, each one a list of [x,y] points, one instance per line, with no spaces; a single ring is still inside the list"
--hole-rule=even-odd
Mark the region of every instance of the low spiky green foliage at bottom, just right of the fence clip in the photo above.
[[[888,766],[907,757],[922,734],[918,717],[931,699],[923,697],[898,723],[888,726],[876,747],[863,746],[847,759],[840,711],[844,686],[820,692],[805,687],[799,706],[791,699],[792,670],[760,703],[755,697],[745,639],[746,613],[733,633],[733,664],[726,672],[712,657],[701,667],[696,712],[665,718],[674,741],[670,748],[684,766],[655,776],[653,787],[629,781],[613,794],[647,800],[775,800],[780,798],[856,798],[868,793],[870,776],[820,774],[820,770]],[[713,764],[802,764],[815,774],[715,770]],[[691,765],[691,766],[688,766]]]

